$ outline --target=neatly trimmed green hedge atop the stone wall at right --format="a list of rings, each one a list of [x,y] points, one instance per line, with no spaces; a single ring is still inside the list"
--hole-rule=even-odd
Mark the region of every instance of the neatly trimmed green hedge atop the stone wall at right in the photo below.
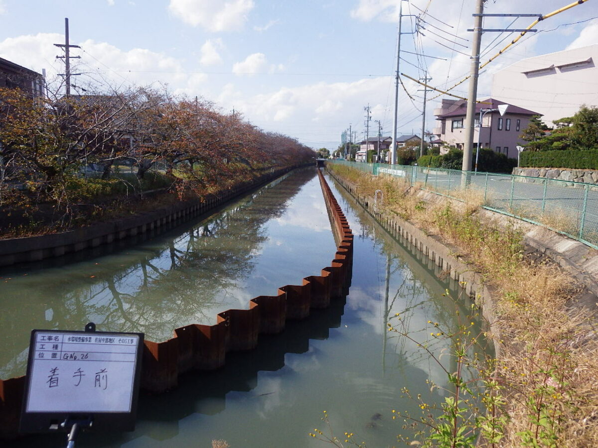
[[[566,149],[563,151],[523,151],[520,167],[574,168],[598,170],[598,149]]]

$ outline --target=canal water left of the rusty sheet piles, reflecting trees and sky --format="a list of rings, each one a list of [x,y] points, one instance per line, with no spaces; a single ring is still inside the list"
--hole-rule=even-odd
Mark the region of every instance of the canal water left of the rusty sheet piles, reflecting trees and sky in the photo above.
[[[309,222],[296,219],[305,209],[316,211]],[[215,323],[220,311],[246,308],[252,297],[319,274],[334,250],[319,181],[309,169],[141,246],[13,270],[0,283],[0,378],[24,373],[30,329],[82,329],[94,321],[103,331],[164,340],[176,327]]]

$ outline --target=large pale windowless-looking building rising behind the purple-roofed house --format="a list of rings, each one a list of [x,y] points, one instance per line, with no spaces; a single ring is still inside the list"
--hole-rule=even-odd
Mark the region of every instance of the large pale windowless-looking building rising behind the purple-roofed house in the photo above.
[[[492,97],[541,113],[549,126],[598,106],[598,44],[529,57],[496,72]]]

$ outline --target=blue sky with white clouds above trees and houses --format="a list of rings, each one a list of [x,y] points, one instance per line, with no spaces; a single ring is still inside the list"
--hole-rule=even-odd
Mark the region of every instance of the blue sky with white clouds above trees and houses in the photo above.
[[[222,112],[333,150],[351,127],[364,139],[392,132],[401,0],[0,0],[0,57],[41,72],[64,73],[65,17],[74,48],[72,83],[166,87],[199,96]],[[486,13],[548,14],[572,0],[486,0]],[[469,72],[475,0],[403,0],[399,71],[449,88]],[[422,11],[426,11],[423,15]],[[418,19],[417,15],[420,15]],[[485,28],[512,18],[488,17]],[[535,20],[521,17],[511,27]],[[419,32],[416,30],[419,23]],[[492,75],[525,57],[598,43],[598,0],[543,20],[480,74],[478,98]],[[515,35],[486,32],[481,61]],[[504,40],[503,40],[504,39]],[[410,53],[408,53],[410,52]],[[417,56],[419,53],[426,56]],[[440,59],[438,59],[440,58]],[[421,134],[422,86],[404,79],[398,133]],[[77,89],[75,89],[77,91]],[[467,82],[451,90],[466,96]],[[408,94],[406,93],[408,92]],[[442,97],[428,93],[426,130]]]

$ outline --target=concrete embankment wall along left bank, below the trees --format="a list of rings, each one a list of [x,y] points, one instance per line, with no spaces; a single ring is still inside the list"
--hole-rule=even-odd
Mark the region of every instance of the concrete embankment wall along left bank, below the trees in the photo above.
[[[219,194],[206,195],[199,200],[180,202],[171,207],[139,213],[129,218],[102,222],[58,234],[0,240],[0,266],[59,257],[66,253],[78,252],[103,244],[113,244],[142,234],[152,233],[155,235],[167,231],[174,225],[207,213],[295,168],[297,167],[274,170],[250,181],[239,183]]]

